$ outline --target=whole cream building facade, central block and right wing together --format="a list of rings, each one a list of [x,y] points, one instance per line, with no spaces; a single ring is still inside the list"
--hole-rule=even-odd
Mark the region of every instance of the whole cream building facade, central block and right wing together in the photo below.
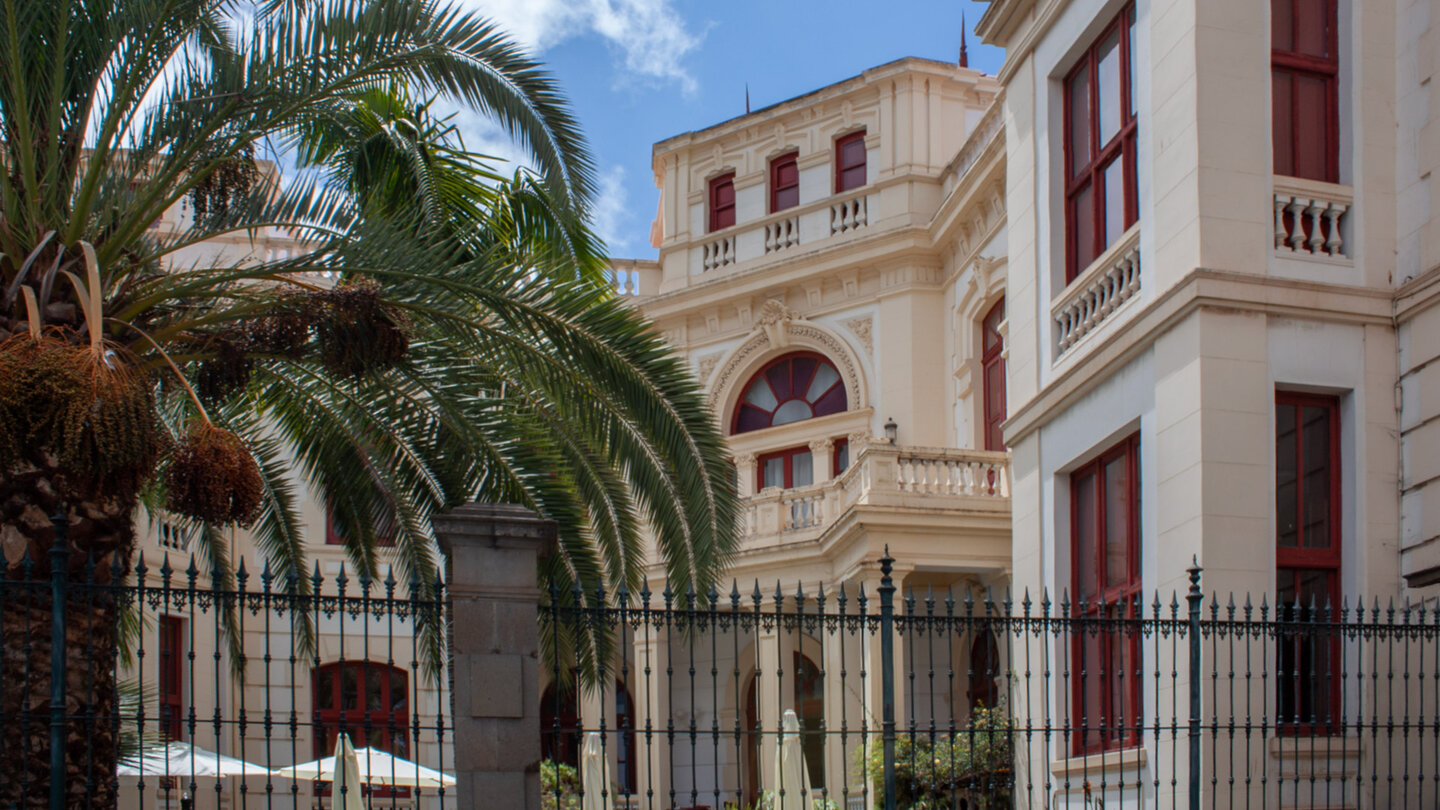
[[[1323,180],[1276,167],[1277,49],[1272,3],[1260,0],[992,0],[976,30],[1007,50],[996,76],[901,59],[655,144],[660,255],[616,261],[616,284],[694,369],[729,435],[743,502],[739,592],[770,600],[779,582],[786,595],[873,594],[888,548],[901,588],[1058,600],[1084,564],[1076,510],[1089,490],[1079,487],[1125,458],[1135,588],[1184,595],[1195,561],[1207,592],[1274,598],[1280,578],[1303,568],[1277,549],[1277,425],[1286,408],[1310,406],[1333,428],[1335,556],[1322,571],[1335,592],[1433,602],[1436,6],[1333,3],[1333,128],[1322,156],[1333,176]],[[1067,151],[1077,137],[1067,135],[1067,92],[1086,65],[1119,81],[1106,62],[1112,32],[1122,32],[1129,91],[1116,118],[1096,118],[1087,137],[1106,143],[1081,161]],[[1110,110],[1094,92],[1097,110]],[[1125,143],[1106,147],[1110,135]],[[851,186],[860,154],[863,180]],[[1106,174],[1110,160],[1128,161],[1128,177]],[[1083,249],[1073,242],[1079,163],[1092,193],[1125,197],[1096,209],[1099,222],[1081,221],[1099,235]],[[265,249],[285,249],[284,239]],[[842,406],[840,393],[824,406],[824,392],[796,393],[805,408],[776,417],[786,396],[770,385],[768,401],[755,386],[778,368],[792,379],[802,368],[808,380],[832,369],[827,391],[842,392]],[[742,414],[747,402],[769,405],[759,408],[768,421]],[[991,435],[996,402],[1004,447]],[[310,536],[323,536],[323,512],[307,507],[305,519]],[[158,542],[147,539],[147,555]],[[315,556],[338,569],[337,551],[317,545]],[[658,565],[649,587],[664,587]],[[632,683],[582,696],[579,713],[624,708],[636,728],[775,729],[795,706],[792,683],[756,670],[795,670],[802,659],[829,673],[878,670],[871,644],[838,651],[762,631],[730,653],[687,659],[737,673],[707,690],[639,677],[677,651],[662,638],[636,643],[618,664]],[[910,653],[907,667],[969,669],[965,650],[949,662]],[[827,722],[873,724],[877,679],[867,693],[825,683],[812,709]],[[1012,703],[1035,726],[1063,716],[1068,699],[1038,683]],[[1142,695],[1146,716],[1187,685],[1181,673],[1165,693]],[[236,689],[219,698],[226,712]],[[897,695],[900,722],[963,718],[976,689]],[[935,709],[914,716],[913,705]],[[749,796],[772,745],[696,754],[658,742],[625,768],[660,801]],[[1081,773],[1071,754],[1022,745],[1017,781],[1037,785],[1022,803],[1083,807],[1079,788],[1063,787]],[[1106,751],[1112,784],[1146,785],[1106,806],[1169,806],[1188,788],[1184,768],[1174,787],[1156,778],[1172,754],[1143,742]],[[619,755],[611,751],[612,774]],[[1283,764],[1264,745],[1247,755],[1256,768]],[[863,790],[848,751],[825,748],[822,761],[831,797]],[[1207,754],[1205,784],[1231,767]],[[1318,806],[1375,803],[1355,785],[1336,790]]]

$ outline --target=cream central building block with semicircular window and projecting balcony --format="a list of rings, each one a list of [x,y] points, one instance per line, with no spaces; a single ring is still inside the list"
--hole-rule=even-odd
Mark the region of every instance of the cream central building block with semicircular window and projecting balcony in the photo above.
[[[1009,461],[994,435],[1004,415],[1008,249],[999,97],[978,71],[901,59],[655,144],[660,257],[616,262],[616,284],[691,365],[729,437],[742,536],[721,592],[734,587],[746,605],[760,592],[766,610],[778,588],[788,610],[798,591],[834,600],[844,588],[854,600],[863,588],[874,598],[888,549],[903,592],[1004,595]],[[732,199],[733,213],[716,219]],[[811,378],[806,363],[834,375]],[[786,393],[786,375],[816,382],[808,396],[799,383]],[[832,383],[842,405],[816,396]],[[652,568],[655,592],[662,577]],[[880,679],[855,677],[880,669],[873,638],[844,647],[779,628],[737,636],[714,654],[661,637],[635,644],[626,664],[636,676],[674,654],[694,654],[701,673],[732,675],[701,677],[694,690],[644,682],[648,692],[632,696],[638,729],[672,719],[680,729],[772,732],[746,745],[641,742],[641,794],[654,790],[668,806],[674,791],[681,807],[755,801],[775,787],[768,768],[785,709],[811,731],[878,728]],[[901,724],[963,721],[985,687],[966,676],[971,650],[899,656],[960,673],[897,695]],[[795,680],[816,672],[831,676],[806,699]],[[586,696],[586,725],[602,712],[613,718],[613,700]],[[922,709],[912,716],[907,706]],[[816,796],[848,794],[855,807],[873,796],[857,767],[863,738],[815,739]]]

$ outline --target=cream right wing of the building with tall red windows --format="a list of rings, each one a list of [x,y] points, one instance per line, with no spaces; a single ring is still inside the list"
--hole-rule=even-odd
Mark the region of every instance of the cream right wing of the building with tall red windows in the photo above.
[[[1084,487],[1100,486],[1097,470],[1110,460],[1132,458],[1138,545],[1129,562],[1146,602],[1156,591],[1184,600],[1197,561],[1207,598],[1220,594],[1221,604],[1227,594],[1256,605],[1296,597],[1434,604],[1436,12],[1431,0],[989,1],[976,30],[1007,50],[998,82],[1017,591],[1081,589]],[[1133,69],[1107,74],[1116,30]],[[1310,72],[1299,79],[1296,65]],[[1093,107],[1090,95],[1086,107],[1068,95],[1092,76],[1123,85],[1126,74],[1132,101],[1112,99],[1119,112],[1109,123],[1103,99]],[[1312,82],[1313,92],[1290,82]],[[1084,245],[1079,265],[1073,210],[1086,202],[1084,140],[1096,131],[1074,134],[1077,105],[1102,110],[1102,141],[1133,138],[1117,147],[1133,160],[1132,208],[1103,242]],[[1089,146],[1093,160],[1109,159],[1103,143]],[[1109,180],[1103,169],[1093,177],[1092,192]],[[1296,526],[1286,509],[1315,502],[1296,494],[1292,440],[1312,418],[1333,432],[1313,434],[1319,450],[1305,457],[1302,483],[1313,470],[1332,497]],[[1315,553],[1296,553],[1296,532]],[[1175,663],[1159,657],[1156,670]],[[1407,664],[1381,666],[1404,673]],[[1349,680],[1336,677],[1336,703],[1405,716],[1407,690],[1361,689],[1356,662],[1349,669]],[[1164,689],[1146,689],[1143,716],[1171,716],[1171,689],[1184,696],[1188,682],[1181,670]],[[1266,700],[1273,712],[1274,689],[1279,675],[1269,687],[1259,677],[1233,685],[1228,698],[1207,692],[1205,715],[1244,716]],[[1066,716],[1067,700],[1061,689],[1032,690],[1014,705],[1025,706],[1022,722],[1040,724]],[[1354,774],[1362,749],[1392,773],[1413,773],[1414,749],[1365,736],[1344,751],[1335,739],[1305,742],[1323,751],[1310,760],[1286,752],[1273,722],[1254,744],[1221,735],[1205,748],[1202,801],[1259,804],[1264,793],[1284,806],[1400,806],[1398,793],[1387,800],[1384,785],[1356,784]],[[1094,798],[1106,807],[1182,801],[1188,778],[1181,764],[1171,781],[1172,754],[1158,741],[1104,751],[1110,785],[1145,788]],[[1057,744],[1020,757],[1017,780],[1037,785],[1030,804],[1090,806],[1076,755]],[[1259,774],[1270,774],[1269,784]],[[1320,787],[1308,798],[1277,797],[1280,774],[1297,784],[1318,774]],[[1339,774],[1349,778],[1328,778]],[[1227,787],[1231,777],[1238,788]],[[1434,806],[1433,787],[1407,781],[1405,790],[1404,806]]]

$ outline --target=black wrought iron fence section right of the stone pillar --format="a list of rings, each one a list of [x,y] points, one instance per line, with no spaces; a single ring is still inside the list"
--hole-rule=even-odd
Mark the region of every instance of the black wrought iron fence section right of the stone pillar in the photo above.
[[[1148,600],[897,592],[891,564],[832,589],[552,591],[544,643],[596,654],[544,676],[544,806],[1440,806],[1434,605],[1217,598],[1198,568]]]

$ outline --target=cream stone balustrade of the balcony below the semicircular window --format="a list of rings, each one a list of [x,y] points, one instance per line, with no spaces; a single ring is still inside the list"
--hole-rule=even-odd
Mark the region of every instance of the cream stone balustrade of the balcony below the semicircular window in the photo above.
[[[837,479],[746,497],[740,533],[789,542],[819,535],[857,504],[963,507],[976,502],[1009,502],[1004,453],[871,444]]]

